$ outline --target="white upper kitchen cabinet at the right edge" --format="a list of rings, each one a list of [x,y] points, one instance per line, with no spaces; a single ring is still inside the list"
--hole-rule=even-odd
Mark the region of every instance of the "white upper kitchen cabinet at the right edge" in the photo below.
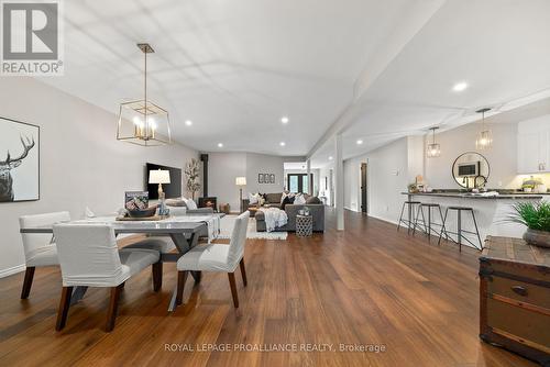
[[[518,174],[550,171],[550,119],[535,119],[518,124]]]

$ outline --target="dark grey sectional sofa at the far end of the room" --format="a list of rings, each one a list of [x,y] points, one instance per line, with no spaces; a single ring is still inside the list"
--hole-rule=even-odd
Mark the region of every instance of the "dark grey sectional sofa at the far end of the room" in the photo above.
[[[318,198],[315,197],[309,197],[307,194],[306,200],[309,201],[310,203],[305,203],[305,204],[286,204],[285,205],[285,212],[288,216],[288,223],[282,227],[275,229],[275,231],[279,232],[295,232],[296,231],[296,215],[298,215],[298,212],[302,210],[304,208],[308,208],[309,212],[314,216],[314,232],[324,232],[324,204],[321,203],[321,201]],[[280,199],[283,197],[283,192],[276,192],[276,193],[266,193],[265,194],[265,202],[262,207],[257,204],[250,204],[249,199],[243,199],[243,208],[249,208],[251,211],[251,215],[254,214],[254,218],[256,220],[256,231],[257,232],[265,232],[266,231],[266,224],[265,224],[265,215],[261,210],[257,210],[260,208],[280,208]]]

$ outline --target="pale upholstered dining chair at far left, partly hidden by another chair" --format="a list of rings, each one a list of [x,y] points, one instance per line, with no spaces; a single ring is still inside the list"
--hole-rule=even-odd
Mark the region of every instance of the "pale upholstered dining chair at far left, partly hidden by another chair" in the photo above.
[[[58,222],[70,221],[69,212],[54,212],[44,214],[23,215],[19,218],[22,229],[53,225]],[[51,234],[22,233],[23,251],[25,254],[25,278],[21,289],[21,299],[29,298],[33,285],[34,270],[36,267],[57,266],[57,248]]]

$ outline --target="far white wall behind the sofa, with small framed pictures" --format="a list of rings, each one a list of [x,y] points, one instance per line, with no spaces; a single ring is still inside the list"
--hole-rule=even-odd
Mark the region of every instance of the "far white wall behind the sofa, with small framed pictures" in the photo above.
[[[218,197],[219,203],[229,203],[232,212],[240,209],[235,178],[246,177],[243,199],[249,192],[282,192],[284,188],[285,157],[255,153],[209,153],[208,194]],[[275,184],[258,184],[258,174],[274,174]]]

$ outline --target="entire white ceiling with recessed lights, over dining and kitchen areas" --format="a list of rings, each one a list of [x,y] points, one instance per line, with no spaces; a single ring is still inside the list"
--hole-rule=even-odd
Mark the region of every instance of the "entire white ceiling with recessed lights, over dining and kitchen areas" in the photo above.
[[[332,155],[336,132],[351,157],[550,89],[547,0],[64,5],[65,77],[43,80],[118,113],[119,102],[141,98],[135,44],[148,42],[150,97],[169,110],[175,138],[200,151],[221,142],[223,151],[309,153],[316,167]],[[451,91],[462,80],[470,87]]]

